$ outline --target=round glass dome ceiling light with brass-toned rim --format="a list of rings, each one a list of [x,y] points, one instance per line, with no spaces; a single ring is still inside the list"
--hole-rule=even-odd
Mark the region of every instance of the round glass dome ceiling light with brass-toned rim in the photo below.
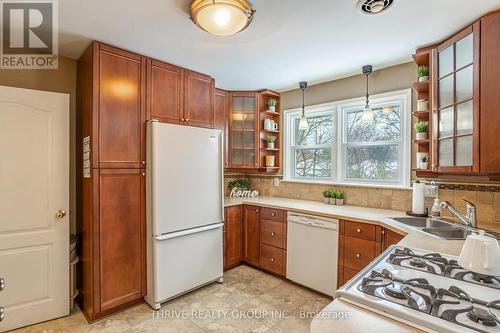
[[[230,36],[252,22],[255,10],[246,0],[193,0],[191,20],[201,29],[218,36]]]

